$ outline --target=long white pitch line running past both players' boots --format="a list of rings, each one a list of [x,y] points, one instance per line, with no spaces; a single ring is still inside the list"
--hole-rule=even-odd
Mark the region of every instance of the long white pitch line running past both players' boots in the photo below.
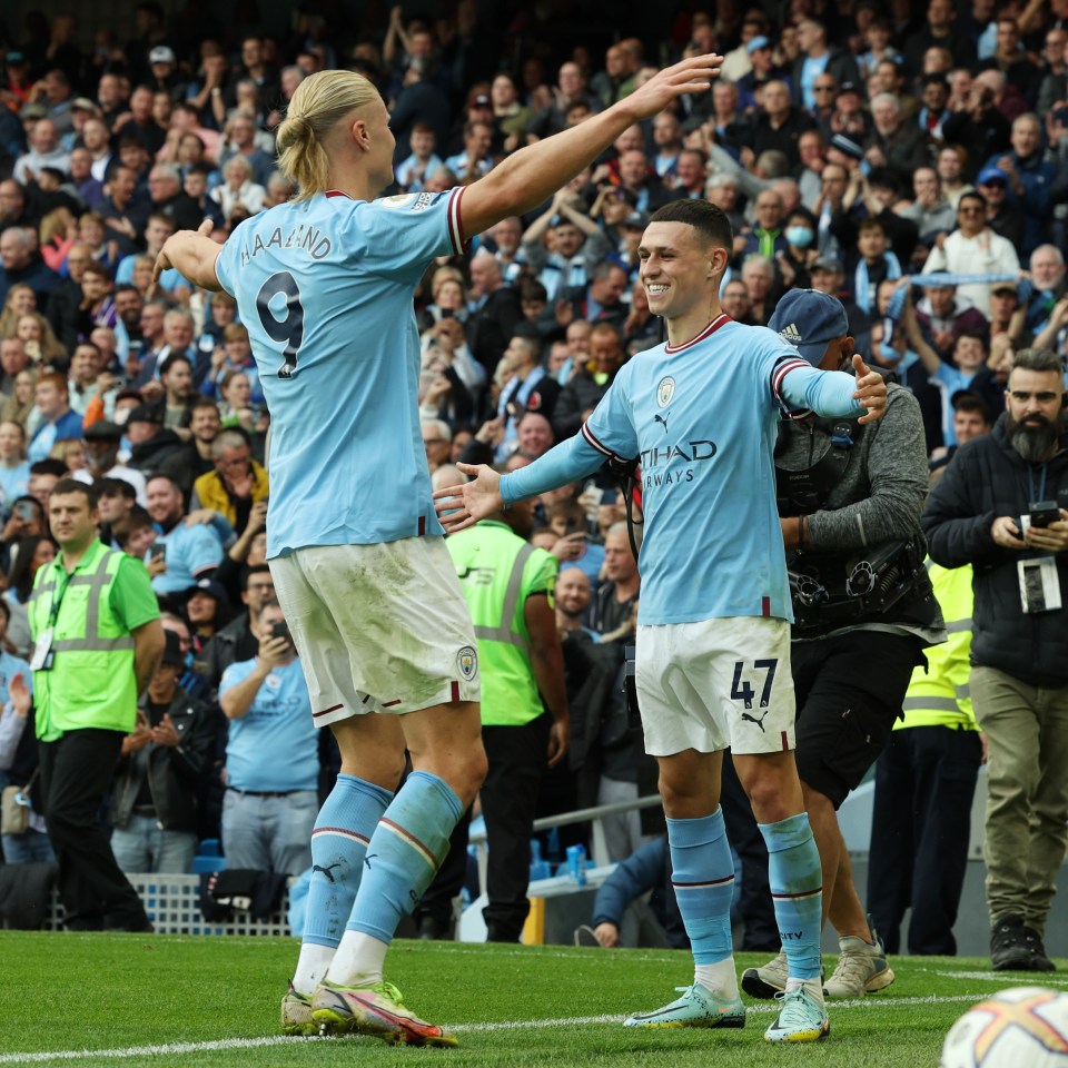
[[[831,1013],[840,1009],[879,1008],[897,1009],[917,1005],[952,1005],[957,1002],[982,1001],[985,993],[961,993],[951,997],[929,995],[913,998],[859,998],[857,1000],[833,1001]],[[746,1012],[753,1015],[777,1012],[774,1005],[751,1005]],[[486,1034],[491,1031],[514,1031],[551,1029],[564,1027],[582,1027],[596,1024],[620,1024],[622,1015],[613,1016],[576,1016],[554,1020],[501,1020],[493,1024],[458,1024],[449,1030],[456,1035]],[[204,1054],[225,1049],[261,1049],[269,1046],[286,1046],[291,1042],[330,1042],[330,1038],[290,1038],[284,1035],[264,1036],[263,1038],[222,1038],[208,1042],[167,1042],[161,1046],[127,1046],[122,1049],[66,1049],[33,1054],[0,1054],[0,1065],[31,1065],[65,1060],[88,1060],[98,1057],[107,1060],[129,1060],[135,1057],[162,1057],[180,1054]],[[347,1039],[346,1039],[347,1041]],[[363,1041],[360,1039],[360,1041]],[[376,1041],[367,1039],[368,1044]]]

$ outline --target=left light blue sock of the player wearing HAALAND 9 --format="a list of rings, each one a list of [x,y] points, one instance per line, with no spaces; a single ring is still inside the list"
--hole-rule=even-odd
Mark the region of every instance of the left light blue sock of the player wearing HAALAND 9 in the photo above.
[[[364,854],[393,792],[356,775],[338,775],[312,831],[305,942],[337,948],[364,873]]]

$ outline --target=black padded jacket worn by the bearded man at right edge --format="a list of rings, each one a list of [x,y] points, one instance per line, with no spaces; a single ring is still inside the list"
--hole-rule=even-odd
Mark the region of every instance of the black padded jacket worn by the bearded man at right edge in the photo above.
[[[998,419],[993,433],[957,451],[928,497],[923,532],[936,563],[971,564],[975,570],[972,664],[996,668],[1031,685],[1059,686],[1068,683],[1068,611],[1025,614],[1020,605],[1017,563],[1045,554],[1001,548],[990,536],[998,516],[1019,522],[1032,500],[1032,485],[1037,494],[1041,479],[1042,465],[1028,464],[1009,443],[1006,418]],[[1068,446],[1068,437],[1060,441],[1062,449]],[[1068,507],[1068,452],[1045,467],[1042,500]],[[1060,589],[1068,595],[1068,554],[1054,558]]]

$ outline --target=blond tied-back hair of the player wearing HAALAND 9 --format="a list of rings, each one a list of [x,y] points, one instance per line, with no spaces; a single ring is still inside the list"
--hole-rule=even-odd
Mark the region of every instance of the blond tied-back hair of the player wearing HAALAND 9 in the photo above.
[[[277,137],[278,169],[300,187],[294,200],[326,192],[330,160],[323,139],[352,111],[379,99],[372,82],[352,70],[320,70],[297,86]]]

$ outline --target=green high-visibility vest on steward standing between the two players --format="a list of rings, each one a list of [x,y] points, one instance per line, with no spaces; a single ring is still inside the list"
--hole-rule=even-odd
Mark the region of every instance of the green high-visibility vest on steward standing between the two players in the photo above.
[[[483,521],[445,541],[456,564],[478,640],[482,722],[520,726],[544,712],[531,665],[524,607],[534,593],[552,597],[556,558],[504,523]]]

